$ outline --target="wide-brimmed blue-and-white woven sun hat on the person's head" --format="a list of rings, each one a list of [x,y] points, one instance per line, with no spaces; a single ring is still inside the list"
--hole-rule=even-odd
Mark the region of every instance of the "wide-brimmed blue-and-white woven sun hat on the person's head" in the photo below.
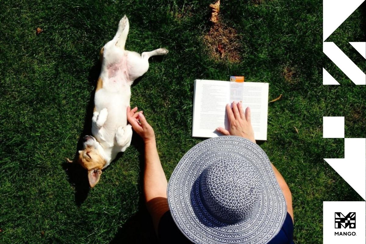
[[[266,153],[238,136],[204,140],[180,159],[168,183],[175,224],[194,243],[268,243],[287,209]]]

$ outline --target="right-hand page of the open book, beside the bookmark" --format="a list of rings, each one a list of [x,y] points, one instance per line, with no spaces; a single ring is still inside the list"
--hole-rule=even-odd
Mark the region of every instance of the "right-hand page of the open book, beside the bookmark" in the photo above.
[[[250,107],[255,140],[267,140],[268,83],[244,82],[242,105]]]

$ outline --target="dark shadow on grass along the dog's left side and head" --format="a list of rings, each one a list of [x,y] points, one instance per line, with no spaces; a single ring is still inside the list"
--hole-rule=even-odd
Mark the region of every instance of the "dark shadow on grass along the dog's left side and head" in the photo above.
[[[93,67],[91,67],[88,75],[88,81],[90,85],[94,86],[94,90],[91,92],[89,102],[86,107],[86,114],[84,119],[83,131],[81,132],[78,143],[76,144],[74,163],[63,162],[62,167],[65,170],[70,184],[75,186],[75,203],[77,206],[86,200],[90,187],[89,180],[87,177],[87,171],[76,163],[79,150],[83,149],[83,137],[85,135],[91,135],[91,118],[93,117],[94,110],[94,95],[97,86],[97,80],[100,74],[101,63],[99,60],[94,61]],[[75,115],[77,116],[77,115]]]

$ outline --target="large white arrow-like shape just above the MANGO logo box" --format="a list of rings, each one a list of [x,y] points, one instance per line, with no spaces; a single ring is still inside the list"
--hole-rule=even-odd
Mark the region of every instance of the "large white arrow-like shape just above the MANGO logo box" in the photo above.
[[[366,138],[345,138],[344,158],[324,160],[366,200]]]

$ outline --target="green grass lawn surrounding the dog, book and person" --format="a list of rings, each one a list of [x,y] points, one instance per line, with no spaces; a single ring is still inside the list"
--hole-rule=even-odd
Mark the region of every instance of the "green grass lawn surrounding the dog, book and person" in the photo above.
[[[245,75],[269,82],[270,100],[283,94],[269,104],[268,141],[261,146],[292,191],[295,243],[321,243],[323,201],[361,200],[322,159],[344,153],[343,139],[322,138],[322,116],[345,116],[346,137],[365,137],[366,131],[366,90],[322,53],[322,1],[223,1],[221,19],[242,37],[242,60],[235,64],[210,59],[203,45],[210,3],[2,1],[0,243],[155,241],[141,196],[137,136],[90,191],[78,183],[83,171],[64,159],[73,157],[87,131],[98,52],[124,14],[128,50],[169,50],[150,61],[131,97],[155,129],[167,177],[201,141],[190,136],[194,79]],[[365,41],[365,8],[328,38],[364,72],[365,60],[348,41]],[[44,32],[35,35],[36,27]],[[286,67],[295,71],[291,80],[284,79]],[[322,67],[341,86],[323,86]]]

